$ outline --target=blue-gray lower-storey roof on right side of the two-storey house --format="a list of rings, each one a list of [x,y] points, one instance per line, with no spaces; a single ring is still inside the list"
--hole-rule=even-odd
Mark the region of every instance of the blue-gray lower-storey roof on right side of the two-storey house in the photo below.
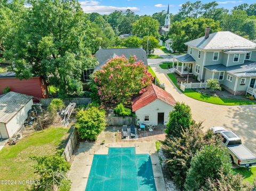
[[[223,64],[207,65],[204,68],[217,72],[226,71],[237,77],[256,77],[256,62],[245,61],[244,64],[226,67]]]

